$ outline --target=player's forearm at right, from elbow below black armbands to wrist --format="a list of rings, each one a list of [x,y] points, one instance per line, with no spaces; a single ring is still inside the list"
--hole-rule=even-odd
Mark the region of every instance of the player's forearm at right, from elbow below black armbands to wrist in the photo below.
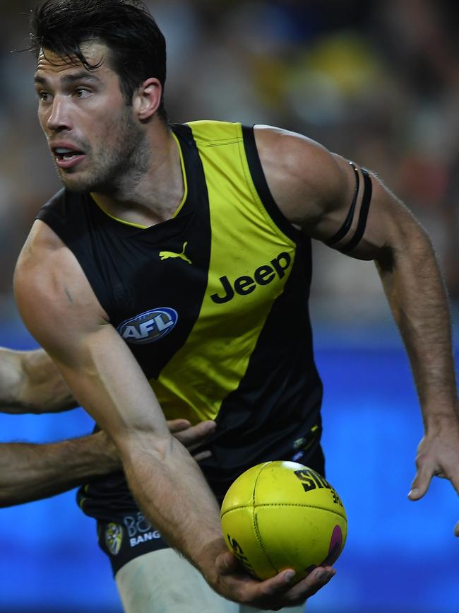
[[[448,298],[427,235],[413,228],[391,262],[379,264],[383,286],[410,358],[424,426],[457,416]]]

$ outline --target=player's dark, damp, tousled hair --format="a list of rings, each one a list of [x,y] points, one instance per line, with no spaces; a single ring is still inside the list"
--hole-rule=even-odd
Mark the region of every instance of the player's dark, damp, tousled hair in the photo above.
[[[81,45],[100,40],[109,49],[109,65],[118,74],[121,92],[130,105],[136,88],[149,77],[162,85],[157,114],[166,123],[164,86],[166,42],[160,28],[141,0],[46,0],[31,18],[30,50],[38,57],[49,49],[62,59],[77,58],[88,70]]]

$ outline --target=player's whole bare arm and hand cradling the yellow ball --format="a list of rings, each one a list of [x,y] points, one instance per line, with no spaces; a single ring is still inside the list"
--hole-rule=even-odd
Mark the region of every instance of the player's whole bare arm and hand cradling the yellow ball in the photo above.
[[[331,574],[319,568],[291,588],[287,572],[259,582],[234,568],[217,502],[201,470],[170,436],[148,381],[107,322],[75,257],[40,221],[20,255],[15,293],[30,332],[117,445],[145,514],[215,590],[230,600],[270,609],[302,602],[328,581]]]

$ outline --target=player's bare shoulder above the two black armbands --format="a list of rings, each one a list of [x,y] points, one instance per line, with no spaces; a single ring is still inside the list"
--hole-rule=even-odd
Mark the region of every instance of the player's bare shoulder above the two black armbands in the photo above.
[[[340,156],[285,129],[257,125],[254,134],[268,187],[291,223],[315,223],[324,211],[349,197],[352,170]]]

